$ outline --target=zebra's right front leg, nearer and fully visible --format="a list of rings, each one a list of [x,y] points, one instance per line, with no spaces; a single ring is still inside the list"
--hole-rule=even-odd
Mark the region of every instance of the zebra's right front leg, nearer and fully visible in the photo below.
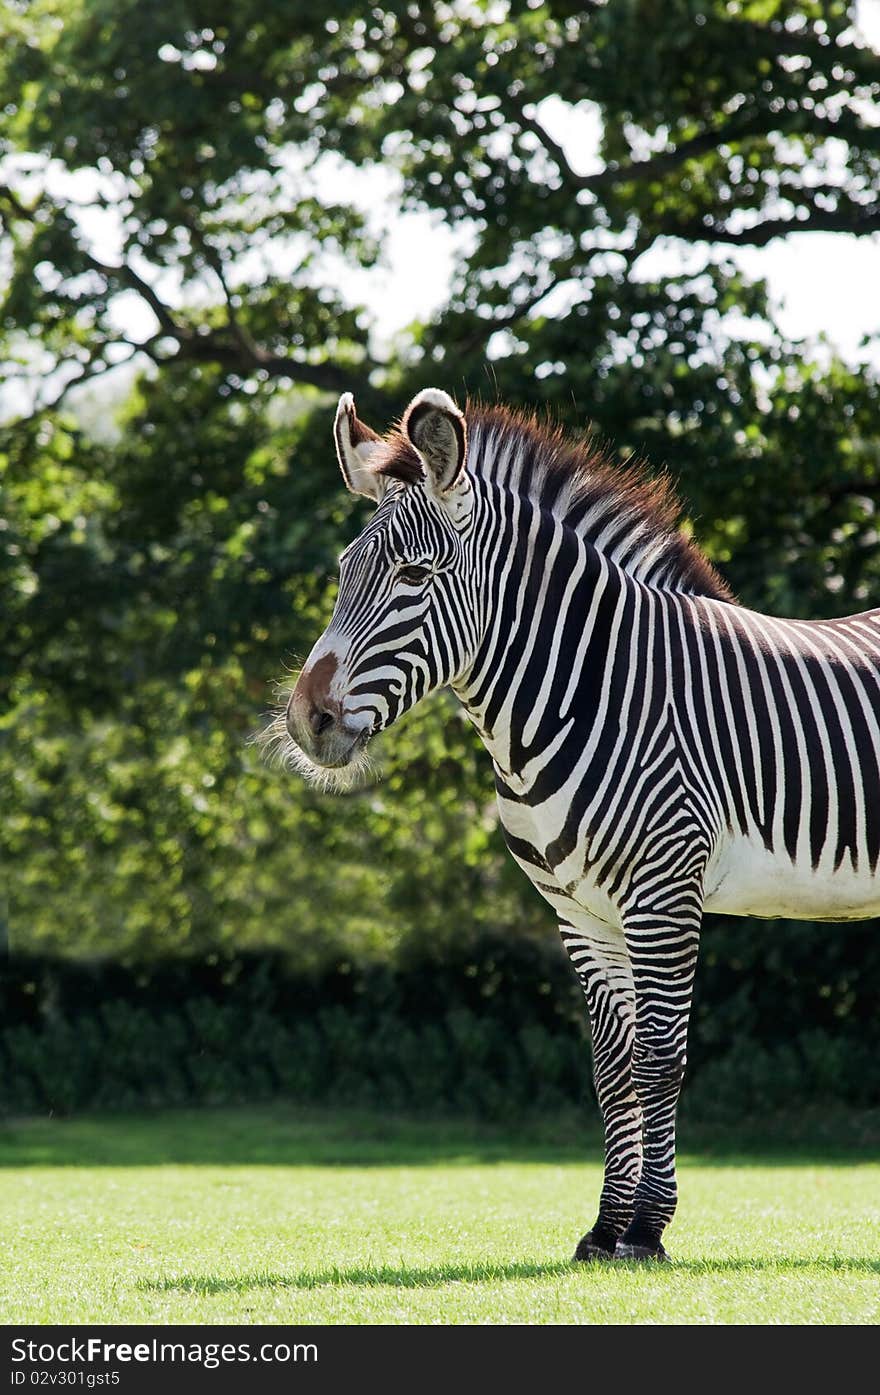
[[[633,1085],[643,1117],[642,1176],[618,1258],[667,1260],[662,1232],[675,1212],[675,1110],[688,1062],[688,1020],[700,939],[699,890],[664,898],[669,910],[623,917],[636,990]]]

